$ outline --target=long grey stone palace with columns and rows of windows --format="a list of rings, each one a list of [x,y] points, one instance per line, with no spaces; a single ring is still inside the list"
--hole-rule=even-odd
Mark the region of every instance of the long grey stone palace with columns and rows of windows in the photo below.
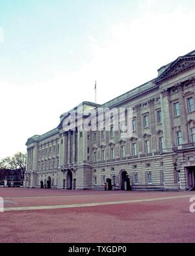
[[[107,182],[109,189],[193,189],[194,88],[195,50],[105,104],[85,101],[62,114],[55,129],[27,140],[25,187],[103,189]],[[121,136],[120,120],[114,129],[113,108],[125,109],[123,124],[131,126],[131,136]],[[128,108],[133,110],[130,122]],[[83,122],[92,127],[88,120],[99,109],[102,129],[81,129]]]

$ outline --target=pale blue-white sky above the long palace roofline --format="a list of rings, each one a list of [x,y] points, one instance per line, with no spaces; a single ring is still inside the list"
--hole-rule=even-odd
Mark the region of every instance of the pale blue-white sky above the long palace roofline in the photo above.
[[[0,159],[195,49],[194,0],[0,0]]]

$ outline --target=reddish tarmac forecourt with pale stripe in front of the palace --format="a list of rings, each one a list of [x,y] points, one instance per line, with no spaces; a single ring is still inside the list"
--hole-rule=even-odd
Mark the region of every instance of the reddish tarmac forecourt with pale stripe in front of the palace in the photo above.
[[[1,187],[0,242],[195,242],[191,196]]]

